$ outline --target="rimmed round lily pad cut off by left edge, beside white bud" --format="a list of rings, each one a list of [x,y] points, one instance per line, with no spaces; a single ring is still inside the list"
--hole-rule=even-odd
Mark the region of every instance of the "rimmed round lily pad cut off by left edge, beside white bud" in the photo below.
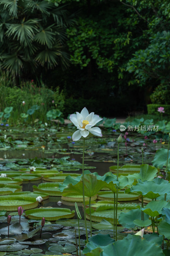
[[[22,206],[25,210],[38,206],[38,202],[31,196],[1,196],[0,210],[18,211],[18,207]]]

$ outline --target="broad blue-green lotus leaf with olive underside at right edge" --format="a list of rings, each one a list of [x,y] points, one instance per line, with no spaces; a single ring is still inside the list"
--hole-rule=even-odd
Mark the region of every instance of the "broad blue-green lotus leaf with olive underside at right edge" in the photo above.
[[[162,179],[157,178],[157,180],[162,180]],[[143,195],[144,197],[154,199],[161,195],[170,194],[170,183],[158,184],[153,180],[143,183],[142,181],[139,180],[139,183],[133,186],[130,189],[130,191],[131,192],[135,191],[140,195]]]

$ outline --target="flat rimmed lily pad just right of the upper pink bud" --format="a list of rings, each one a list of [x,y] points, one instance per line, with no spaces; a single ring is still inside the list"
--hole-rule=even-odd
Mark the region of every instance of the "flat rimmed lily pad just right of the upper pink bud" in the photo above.
[[[74,217],[75,211],[70,211],[67,208],[39,208],[26,211],[26,217],[29,219],[39,220],[43,217],[46,220],[58,220],[62,218]]]

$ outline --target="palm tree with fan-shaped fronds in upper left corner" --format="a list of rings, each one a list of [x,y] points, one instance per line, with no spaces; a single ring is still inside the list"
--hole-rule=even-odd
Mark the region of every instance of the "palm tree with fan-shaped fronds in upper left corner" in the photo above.
[[[0,68],[15,78],[35,74],[39,66],[67,68],[65,31],[73,22],[64,6],[44,0],[0,0]]]

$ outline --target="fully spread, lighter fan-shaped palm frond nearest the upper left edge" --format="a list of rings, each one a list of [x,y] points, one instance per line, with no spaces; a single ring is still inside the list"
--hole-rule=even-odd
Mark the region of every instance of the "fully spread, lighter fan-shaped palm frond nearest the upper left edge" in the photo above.
[[[33,41],[34,32],[38,32],[37,20],[27,20],[21,24],[11,24],[6,35],[8,37],[13,36],[13,39],[17,38],[21,44],[27,46]]]

